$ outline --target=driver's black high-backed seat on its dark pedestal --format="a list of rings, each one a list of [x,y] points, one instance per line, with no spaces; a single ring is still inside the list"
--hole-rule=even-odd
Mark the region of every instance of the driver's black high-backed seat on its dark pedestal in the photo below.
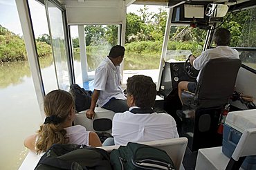
[[[210,59],[201,70],[195,93],[183,92],[181,137],[188,138],[191,151],[219,147],[222,135],[217,133],[219,117],[232,95],[240,59]],[[184,110],[188,109],[188,113]]]

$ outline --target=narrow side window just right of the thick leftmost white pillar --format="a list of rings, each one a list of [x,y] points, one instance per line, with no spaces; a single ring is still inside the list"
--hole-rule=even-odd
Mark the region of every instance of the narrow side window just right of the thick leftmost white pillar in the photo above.
[[[55,74],[53,74],[55,73],[55,66],[53,64],[53,50],[47,23],[46,8],[44,4],[35,0],[29,0],[28,5],[30,6],[30,15],[33,23],[44,91],[47,94],[57,89],[57,79]]]

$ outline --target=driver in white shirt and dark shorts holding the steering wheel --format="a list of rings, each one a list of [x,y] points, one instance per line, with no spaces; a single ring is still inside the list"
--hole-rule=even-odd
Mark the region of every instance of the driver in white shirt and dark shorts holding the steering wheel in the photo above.
[[[201,73],[201,69],[205,66],[205,64],[210,59],[217,58],[232,58],[239,59],[239,53],[237,50],[229,47],[231,35],[229,30],[226,28],[218,28],[214,32],[214,42],[217,44],[216,48],[205,50],[199,57],[194,57],[194,55],[190,55],[188,58],[190,59],[190,64],[196,68],[196,70],[200,70],[199,75],[196,77],[196,81],[199,80],[199,76]],[[181,100],[181,93],[185,91],[190,91],[194,93],[196,91],[197,82],[179,82],[179,98]],[[182,100],[181,100],[182,103]]]

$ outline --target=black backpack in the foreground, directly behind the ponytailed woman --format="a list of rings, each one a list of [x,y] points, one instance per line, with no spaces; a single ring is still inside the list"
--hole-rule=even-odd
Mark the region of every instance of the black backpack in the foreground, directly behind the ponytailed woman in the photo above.
[[[78,144],[53,144],[42,155],[35,170],[110,170],[109,153]]]

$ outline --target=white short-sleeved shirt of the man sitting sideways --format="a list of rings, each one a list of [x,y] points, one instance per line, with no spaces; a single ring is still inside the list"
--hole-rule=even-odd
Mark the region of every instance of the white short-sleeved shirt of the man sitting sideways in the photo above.
[[[100,107],[113,97],[126,100],[122,92],[121,81],[120,66],[113,65],[109,57],[106,57],[95,70],[94,89],[100,91],[97,102]]]

